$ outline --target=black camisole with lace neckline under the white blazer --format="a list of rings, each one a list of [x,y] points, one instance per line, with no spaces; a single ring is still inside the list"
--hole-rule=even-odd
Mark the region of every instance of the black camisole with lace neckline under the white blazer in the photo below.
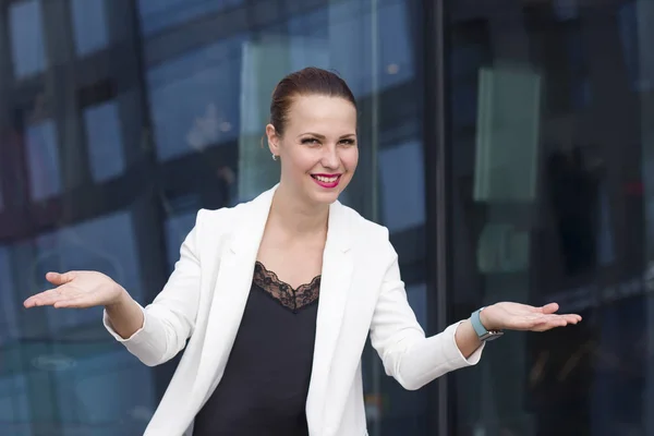
[[[320,276],[298,289],[259,262],[225,374],[194,436],[308,435],[304,412]]]

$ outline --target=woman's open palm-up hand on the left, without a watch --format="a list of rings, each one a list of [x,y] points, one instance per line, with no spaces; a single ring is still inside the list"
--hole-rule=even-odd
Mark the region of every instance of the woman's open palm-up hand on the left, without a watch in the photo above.
[[[126,296],[126,291],[120,284],[97,271],[48,272],[46,280],[56,288],[29,296],[23,303],[25,307],[111,306]]]

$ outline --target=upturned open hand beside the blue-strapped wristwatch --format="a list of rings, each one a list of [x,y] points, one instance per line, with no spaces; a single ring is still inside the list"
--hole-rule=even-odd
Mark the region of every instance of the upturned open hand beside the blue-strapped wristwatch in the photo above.
[[[482,311],[480,320],[487,330],[530,331],[546,331],[581,320],[581,316],[577,314],[556,314],[558,308],[557,303],[549,303],[541,307],[520,303],[496,303]]]

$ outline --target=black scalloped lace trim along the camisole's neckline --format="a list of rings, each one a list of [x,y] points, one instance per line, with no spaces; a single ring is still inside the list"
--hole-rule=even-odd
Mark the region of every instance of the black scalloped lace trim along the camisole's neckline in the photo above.
[[[279,280],[274,271],[269,271],[264,264],[257,261],[254,265],[253,280],[254,284],[293,312],[318,301],[320,276],[314,277],[310,283],[293,289],[290,284]]]

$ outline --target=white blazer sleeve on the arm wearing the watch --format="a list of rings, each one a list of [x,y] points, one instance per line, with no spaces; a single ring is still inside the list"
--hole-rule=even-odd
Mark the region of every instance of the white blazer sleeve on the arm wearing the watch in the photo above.
[[[455,340],[459,323],[443,332],[425,337],[407,300],[398,256],[388,242],[390,262],[371,324],[371,342],[386,374],[409,390],[420,389],[451,371],[476,365],[484,344],[465,359]]]

